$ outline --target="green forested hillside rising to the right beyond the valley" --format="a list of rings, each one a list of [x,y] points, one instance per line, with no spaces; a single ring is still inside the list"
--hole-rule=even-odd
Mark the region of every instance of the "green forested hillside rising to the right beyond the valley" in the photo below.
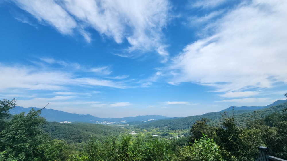
[[[255,120],[259,118],[263,118],[268,114],[274,112],[282,112],[283,109],[287,108],[287,102],[283,104],[278,104],[276,106],[271,106],[269,108],[262,108],[257,110],[254,113],[254,110],[234,110],[234,111],[225,111],[226,116],[234,116],[236,120],[236,124],[238,126],[243,125],[247,120]],[[210,122],[211,125],[217,126],[220,122],[220,118],[222,118],[224,112],[210,112],[203,115],[197,116],[189,116],[185,118],[178,118],[178,119],[168,119],[168,120],[157,120],[154,122],[149,122],[146,124],[138,125],[139,128],[166,128],[168,130],[180,130],[180,129],[188,129],[197,121],[201,120],[202,118],[208,118],[212,121]]]

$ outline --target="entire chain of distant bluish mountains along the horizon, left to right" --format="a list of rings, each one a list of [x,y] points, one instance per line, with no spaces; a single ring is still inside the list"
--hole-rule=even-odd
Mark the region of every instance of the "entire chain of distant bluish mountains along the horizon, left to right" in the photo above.
[[[185,120],[187,119],[188,121],[185,123],[185,125],[183,125],[181,128],[186,128],[189,127],[190,125],[192,125],[196,120],[200,120],[203,117],[207,117],[207,118],[221,118],[221,114],[223,111],[226,111],[229,113],[232,111],[232,108],[234,107],[234,113],[235,114],[241,114],[241,113],[245,113],[247,111],[252,112],[253,110],[260,110],[263,108],[269,108],[272,106],[276,106],[278,104],[283,104],[286,103],[287,100],[277,100],[272,104],[269,104],[267,106],[241,106],[241,107],[236,107],[236,106],[230,106],[229,108],[226,108],[225,110],[219,111],[219,112],[210,112],[210,113],[206,113],[203,115],[198,115],[198,116],[188,116],[186,118],[171,118],[171,117],[166,117],[166,116],[160,116],[160,115],[145,115],[145,116],[136,116],[136,117],[124,117],[124,118],[99,118],[96,116],[92,116],[92,115],[80,115],[80,114],[71,114],[68,112],[64,112],[64,111],[59,111],[59,110],[53,110],[53,109],[43,109],[41,116],[46,118],[47,121],[53,122],[61,122],[61,121],[70,121],[70,122],[89,122],[89,123],[99,123],[99,122],[131,122],[131,124],[139,124],[140,121],[148,121],[150,119],[154,119],[154,120],[160,120],[160,122],[162,122],[162,124],[164,124],[165,126],[167,125],[171,125],[174,122],[177,122],[177,120]],[[38,110],[39,108],[36,107],[29,107],[29,108],[24,108],[21,106],[16,106],[15,108],[10,110],[11,114],[19,114],[21,112],[29,112],[32,108],[34,108],[35,110]],[[190,118],[190,119],[189,119]],[[133,122],[133,123],[132,123]],[[152,123],[153,124],[154,121],[151,122],[146,122],[146,123]],[[156,121],[158,122],[158,121]],[[140,123],[141,124],[141,123]],[[151,124],[150,124],[151,125]]]

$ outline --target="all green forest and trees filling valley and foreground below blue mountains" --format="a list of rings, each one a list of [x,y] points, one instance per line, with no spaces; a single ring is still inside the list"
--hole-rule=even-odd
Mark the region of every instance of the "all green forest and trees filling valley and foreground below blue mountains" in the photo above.
[[[287,159],[287,103],[124,127],[9,114],[15,105],[0,101],[0,160],[256,160],[257,146]]]

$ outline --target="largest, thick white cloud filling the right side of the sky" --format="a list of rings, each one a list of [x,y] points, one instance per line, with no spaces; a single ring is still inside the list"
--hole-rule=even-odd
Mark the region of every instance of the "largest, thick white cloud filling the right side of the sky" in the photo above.
[[[228,92],[287,82],[286,8],[287,1],[253,1],[209,24],[212,36],[174,57],[171,84],[193,82]]]

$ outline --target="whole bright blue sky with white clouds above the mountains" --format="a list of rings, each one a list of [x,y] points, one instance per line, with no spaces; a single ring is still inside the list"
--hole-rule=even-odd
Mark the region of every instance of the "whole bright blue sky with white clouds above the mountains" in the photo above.
[[[4,0],[0,96],[98,117],[286,99],[287,1]]]

